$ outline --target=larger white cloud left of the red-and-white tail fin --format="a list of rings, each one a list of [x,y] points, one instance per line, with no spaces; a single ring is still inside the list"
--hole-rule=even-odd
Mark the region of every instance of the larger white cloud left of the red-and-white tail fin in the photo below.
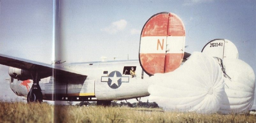
[[[101,29],[101,31],[107,32],[109,34],[116,34],[118,31],[125,29],[127,21],[124,19],[112,22],[111,25]]]

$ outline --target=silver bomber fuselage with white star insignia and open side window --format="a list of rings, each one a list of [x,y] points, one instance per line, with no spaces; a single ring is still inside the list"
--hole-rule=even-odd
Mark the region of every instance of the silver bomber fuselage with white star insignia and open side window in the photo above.
[[[148,96],[149,76],[142,70],[138,60],[110,62],[82,62],[58,64],[64,68],[87,75],[86,79],[68,79],[54,82],[49,76],[40,81],[44,100],[124,100]],[[136,76],[130,75],[131,68]],[[11,79],[10,87],[18,96],[26,97],[33,81]]]

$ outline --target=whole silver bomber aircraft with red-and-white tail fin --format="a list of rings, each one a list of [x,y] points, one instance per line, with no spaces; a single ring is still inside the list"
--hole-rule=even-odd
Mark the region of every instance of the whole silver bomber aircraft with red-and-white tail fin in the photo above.
[[[217,50],[220,51],[217,57],[224,59],[225,55],[230,55],[224,51],[229,42],[212,40],[202,52],[211,54]],[[149,18],[142,28],[139,60],[57,61],[46,64],[0,54],[0,64],[10,66],[11,90],[18,96],[26,97],[28,103],[62,100],[97,101],[97,105],[110,105],[111,101],[138,100],[149,96],[147,88],[150,83],[147,79],[155,73],[171,72],[182,65],[190,56],[184,48],[185,27],[182,20],[174,13],[161,12]],[[234,57],[238,57],[238,53]]]

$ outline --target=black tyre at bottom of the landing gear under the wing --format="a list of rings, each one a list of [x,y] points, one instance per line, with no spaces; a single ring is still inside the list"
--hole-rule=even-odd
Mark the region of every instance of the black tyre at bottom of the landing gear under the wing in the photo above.
[[[32,92],[30,92],[30,91],[27,94],[27,103],[34,103],[34,102],[41,103],[41,102],[43,102],[43,95],[42,95],[42,92],[39,89],[34,88],[32,90]]]

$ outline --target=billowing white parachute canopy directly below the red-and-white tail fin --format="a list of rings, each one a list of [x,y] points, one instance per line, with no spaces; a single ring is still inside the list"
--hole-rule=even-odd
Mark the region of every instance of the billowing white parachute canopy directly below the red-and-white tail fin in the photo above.
[[[175,71],[150,77],[150,83],[148,100],[167,111],[214,113],[224,94],[220,65],[200,52],[192,53]]]

